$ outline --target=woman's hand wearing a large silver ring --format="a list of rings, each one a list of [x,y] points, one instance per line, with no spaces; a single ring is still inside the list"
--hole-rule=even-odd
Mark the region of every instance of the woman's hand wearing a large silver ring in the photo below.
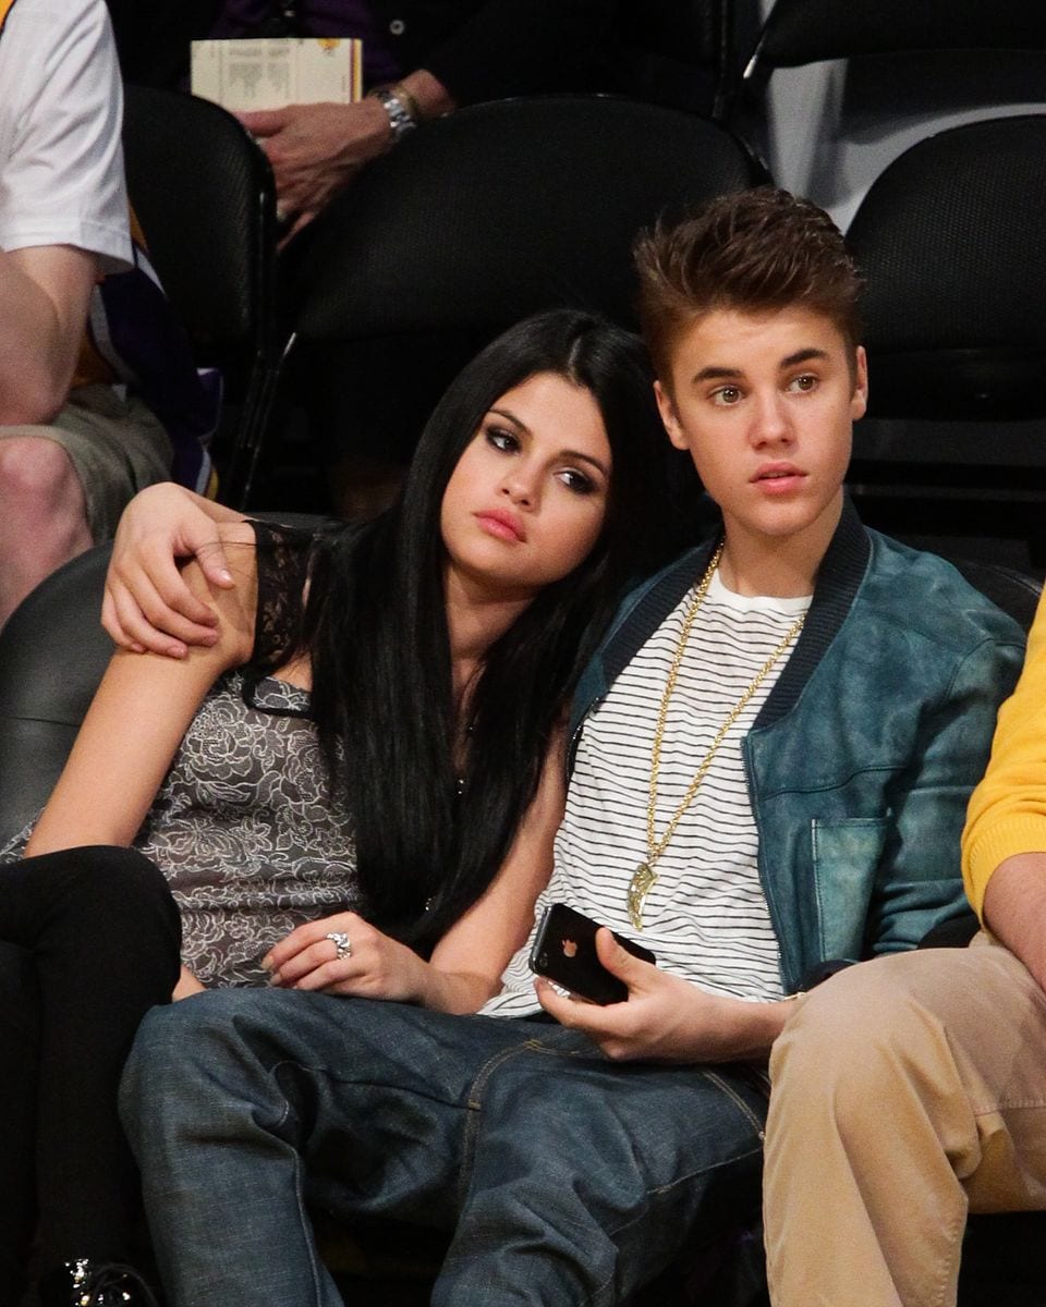
[[[350,953],[337,957],[337,945],[327,936],[348,936]],[[281,940],[263,959],[271,983],[281,989],[312,989],[323,993],[425,1002],[431,966],[405,944],[383,935],[356,912],[339,912],[320,921],[306,921]]]

